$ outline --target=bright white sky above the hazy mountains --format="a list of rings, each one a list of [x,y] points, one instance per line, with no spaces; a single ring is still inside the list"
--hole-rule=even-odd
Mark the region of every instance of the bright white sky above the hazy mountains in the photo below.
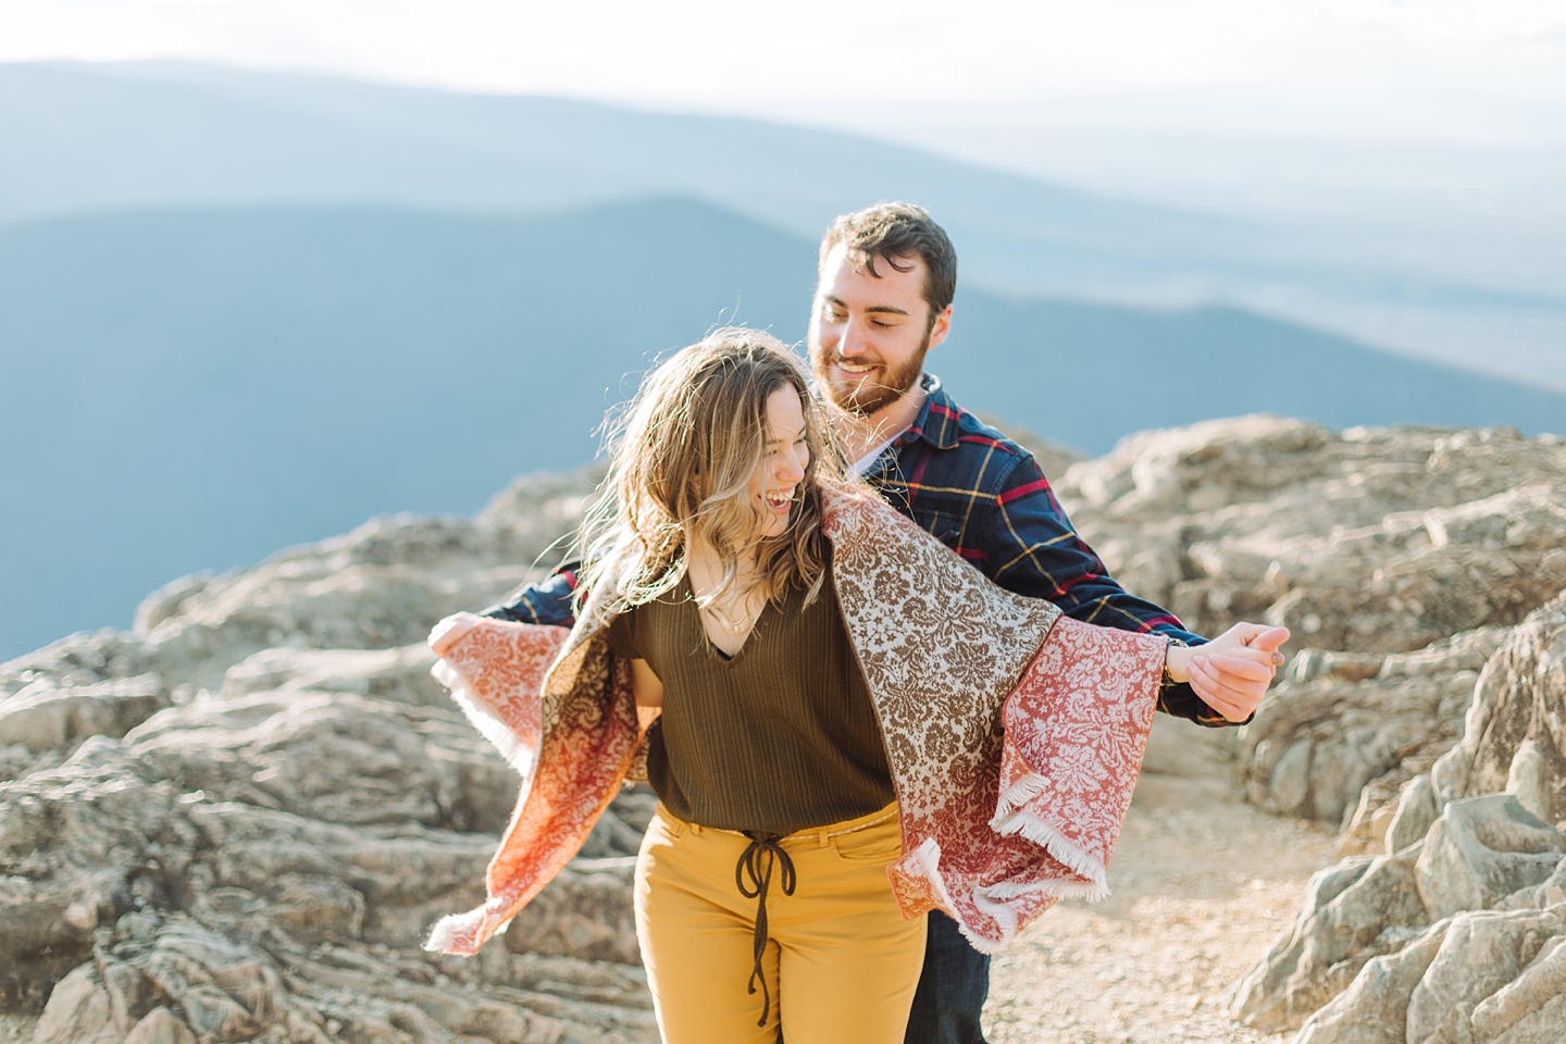
[[[41,58],[741,110],[1248,85],[1351,128],[1356,94],[1566,105],[1566,0],[0,0],[0,61]]]

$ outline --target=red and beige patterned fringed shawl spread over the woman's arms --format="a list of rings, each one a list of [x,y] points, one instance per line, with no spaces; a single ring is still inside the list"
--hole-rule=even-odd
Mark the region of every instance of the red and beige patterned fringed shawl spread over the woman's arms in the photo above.
[[[871,495],[827,490],[832,576],[875,704],[902,814],[886,873],[904,916],[932,908],[993,953],[1063,895],[1107,894],[1142,765],[1165,639],[1012,595]],[[523,776],[489,902],[435,923],[476,953],[576,855],[633,778],[637,714],[592,599],[547,628],[459,614],[435,676]]]

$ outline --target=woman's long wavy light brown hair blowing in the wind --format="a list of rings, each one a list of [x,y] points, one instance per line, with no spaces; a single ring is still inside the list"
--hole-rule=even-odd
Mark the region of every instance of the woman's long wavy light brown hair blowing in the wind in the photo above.
[[[750,476],[766,459],[767,399],[785,388],[799,394],[805,413],[810,465],[788,529],[758,538],[769,517],[750,496]],[[821,479],[841,479],[843,466],[805,371],[780,340],[742,327],[709,333],[648,373],[606,429],[609,473],[583,526],[578,610],[601,584],[612,584],[600,593],[608,612],[653,601],[684,576],[697,540],[723,563],[703,604],[734,584],[747,553],[769,598],[796,585],[806,603],[816,598],[827,565]]]

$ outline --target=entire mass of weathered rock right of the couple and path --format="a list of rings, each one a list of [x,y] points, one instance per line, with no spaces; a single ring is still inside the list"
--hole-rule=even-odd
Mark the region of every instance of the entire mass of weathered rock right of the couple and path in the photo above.
[[[1240,784],[1342,823],[1347,858],[1236,1017],[1297,1044],[1566,1039],[1566,443],[1239,418],[1137,435],[1059,490],[1187,625],[1295,634]]]

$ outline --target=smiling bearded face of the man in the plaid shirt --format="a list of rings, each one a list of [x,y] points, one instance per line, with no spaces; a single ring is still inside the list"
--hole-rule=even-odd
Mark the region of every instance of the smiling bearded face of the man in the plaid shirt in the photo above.
[[[853,413],[875,413],[913,388],[924,354],[946,340],[952,308],[929,321],[924,261],[885,258],[855,269],[849,249],[836,246],[821,263],[816,307],[810,318],[810,365],[835,404]]]

